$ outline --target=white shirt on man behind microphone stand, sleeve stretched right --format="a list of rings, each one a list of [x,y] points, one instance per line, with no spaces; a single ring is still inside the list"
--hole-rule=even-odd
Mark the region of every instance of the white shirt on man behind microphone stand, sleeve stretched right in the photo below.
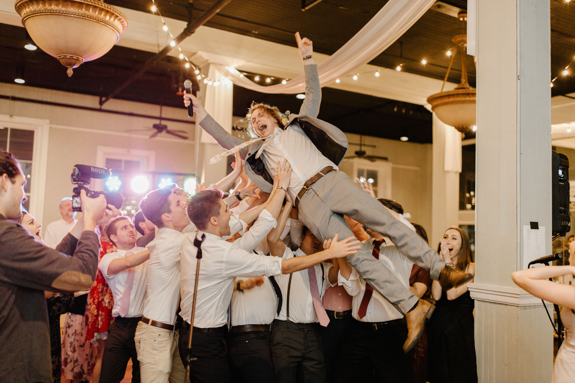
[[[198,232],[197,238],[201,238],[202,234],[205,234],[206,239],[202,243],[194,326],[221,327],[228,321],[227,311],[235,277],[280,275],[282,259],[242,250],[236,244],[210,233]],[[194,246],[196,236],[186,236],[182,243],[180,261],[182,274],[180,315],[187,323],[190,323],[196,279],[197,249]]]

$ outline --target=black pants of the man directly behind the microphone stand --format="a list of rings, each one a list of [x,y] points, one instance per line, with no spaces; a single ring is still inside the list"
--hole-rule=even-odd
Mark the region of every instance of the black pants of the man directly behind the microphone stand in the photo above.
[[[179,351],[182,363],[186,366],[187,342],[190,336],[190,325],[183,324],[179,335]],[[229,367],[227,344],[224,333],[194,331],[191,338],[191,356],[198,358],[190,366],[190,383],[227,383]]]

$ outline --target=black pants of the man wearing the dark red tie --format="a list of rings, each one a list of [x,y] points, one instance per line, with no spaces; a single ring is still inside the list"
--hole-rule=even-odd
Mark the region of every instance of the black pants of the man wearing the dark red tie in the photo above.
[[[354,320],[346,331],[336,369],[338,382],[370,382],[375,369],[378,382],[413,382],[413,353],[403,352],[407,339],[404,321],[367,330]]]

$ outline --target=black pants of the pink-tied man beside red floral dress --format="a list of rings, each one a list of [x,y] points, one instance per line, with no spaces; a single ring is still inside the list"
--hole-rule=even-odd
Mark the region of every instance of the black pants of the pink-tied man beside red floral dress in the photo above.
[[[102,357],[101,383],[120,383],[126,374],[126,366],[132,359],[132,383],[140,383],[140,362],[136,353],[134,335],[141,317],[117,316],[108,328],[108,340]]]

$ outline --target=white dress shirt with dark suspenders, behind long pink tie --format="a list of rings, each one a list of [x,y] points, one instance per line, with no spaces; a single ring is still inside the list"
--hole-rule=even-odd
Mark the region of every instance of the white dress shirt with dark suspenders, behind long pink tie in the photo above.
[[[294,256],[305,256],[305,253],[298,248],[296,251],[290,250],[286,247],[283,252],[282,259],[293,258]],[[323,266],[323,270],[322,270]],[[319,289],[320,298],[323,297],[325,289],[331,284],[328,281],[329,269],[333,265],[331,263],[323,262],[315,266],[317,288]],[[289,285],[289,274],[283,274],[281,277],[276,277],[279,288],[282,290],[282,310],[279,312],[277,319],[286,320],[287,314],[287,285]],[[316,309],[313,307],[312,293],[309,289],[308,270],[300,270],[293,273],[292,286],[290,288],[289,297],[289,320],[296,323],[315,323],[317,319]]]

